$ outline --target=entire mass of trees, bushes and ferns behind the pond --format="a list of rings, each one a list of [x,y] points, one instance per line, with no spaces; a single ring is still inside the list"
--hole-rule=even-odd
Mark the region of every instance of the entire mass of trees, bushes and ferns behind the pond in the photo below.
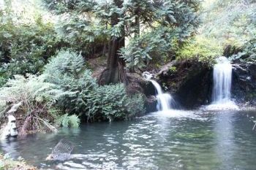
[[[145,96],[127,93],[127,72],[188,58],[256,59],[254,1],[29,2],[23,12],[18,1],[0,6],[0,118],[19,106],[24,134],[145,113]],[[105,61],[98,79],[91,58]]]

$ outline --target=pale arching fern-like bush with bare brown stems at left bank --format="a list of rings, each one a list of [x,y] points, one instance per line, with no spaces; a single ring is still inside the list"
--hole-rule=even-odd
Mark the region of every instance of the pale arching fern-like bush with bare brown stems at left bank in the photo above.
[[[56,131],[50,125],[54,116],[50,109],[61,96],[62,91],[56,86],[45,82],[45,77],[15,75],[7,84],[0,88],[0,115],[13,109],[22,117],[20,134],[27,131]]]

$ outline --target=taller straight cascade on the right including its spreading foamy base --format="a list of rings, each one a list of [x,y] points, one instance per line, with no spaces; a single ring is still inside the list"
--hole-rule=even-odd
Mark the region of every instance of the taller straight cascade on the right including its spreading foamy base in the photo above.
[[[214,65],[212,104],[208,109],[238,109],[231,101],[232,65],[225,57],[217,58]]]

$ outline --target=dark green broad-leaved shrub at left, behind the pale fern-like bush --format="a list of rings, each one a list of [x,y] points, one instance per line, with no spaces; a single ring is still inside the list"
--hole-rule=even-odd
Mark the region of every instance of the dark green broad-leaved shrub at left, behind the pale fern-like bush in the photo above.
[[[1,15],[0,15],[1,17]],[[58,50],[61,40],[56,37],[53,25],[42,23],[0,25],[0,76],[10,78],[15,74],[37,74],[48,57]]]

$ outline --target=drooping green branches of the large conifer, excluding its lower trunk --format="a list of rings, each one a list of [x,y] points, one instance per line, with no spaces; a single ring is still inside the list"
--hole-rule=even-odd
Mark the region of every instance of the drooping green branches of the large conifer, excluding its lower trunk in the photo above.
[[[45,2],[65,18],[59,28],[67,39],[105,42],[129,37],[129,45],[117,52],[129,69],[141,68],[153,57],[167,58],[195,34],[199,24],[197,0]]]

